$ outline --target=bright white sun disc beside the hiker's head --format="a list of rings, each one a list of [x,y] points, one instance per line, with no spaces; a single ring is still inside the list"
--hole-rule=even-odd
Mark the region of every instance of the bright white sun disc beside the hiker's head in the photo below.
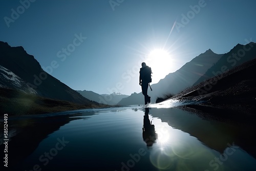
[[[152,69],[152,83],[157,83],[172,71],[172,57],[163,49],[151,51],[145,62]]]

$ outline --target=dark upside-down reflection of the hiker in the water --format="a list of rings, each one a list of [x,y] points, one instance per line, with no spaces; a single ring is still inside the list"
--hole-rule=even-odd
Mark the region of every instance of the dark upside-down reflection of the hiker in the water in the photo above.
[[[155,132],[155,125],[152,124],[152,121],[150,122],[150,119],[148,118],[149,108],[145,108],[145,115],[143,119],[143,132],[142,137],[143,140],[146,142],[146,146],[152,146],[154,142],[156,142],[157,134]]]

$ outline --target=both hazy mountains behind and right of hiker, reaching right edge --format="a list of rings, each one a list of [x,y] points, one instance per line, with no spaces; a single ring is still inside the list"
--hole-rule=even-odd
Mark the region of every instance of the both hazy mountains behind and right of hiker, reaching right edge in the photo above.
[[[238,44],[226,54],[216,54],[209,49],[187,62],[176,72],[170,73],[158,83],[152,84],[153,91],[148,90],[148,95],[151,96],[152,103],[155,103],[157,97],[177,94],[207,78],[214,77],[254,59],[256,57],[255,51],[254,42],[247,45]],[[143,104],[143,100],[142,93],[133,93],[131,96],[123,98],[118,105]]]

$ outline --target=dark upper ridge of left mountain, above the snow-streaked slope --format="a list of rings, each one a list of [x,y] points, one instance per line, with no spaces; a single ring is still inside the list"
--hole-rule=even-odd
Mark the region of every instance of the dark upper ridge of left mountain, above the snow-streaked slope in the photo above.
[[[91,103],[90,100],[42,70],[40,63],[23,47],[11,47],[7,42],[0,41],[0,59],[0,66],[22,78],[39,96],[80,104]]]

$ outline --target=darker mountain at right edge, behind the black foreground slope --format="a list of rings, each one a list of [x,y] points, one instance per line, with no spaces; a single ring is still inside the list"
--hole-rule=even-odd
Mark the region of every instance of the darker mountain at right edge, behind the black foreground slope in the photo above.
[[[238,44],[230,52],[224,54],[214,66],[209,68],[204,75],[202,75],[194,84],[211,78],[219,74],[227,72],[228,70],[241,65],[242,63],[254,59],[256,57],[256,44],[250,42],[247,45]]]

